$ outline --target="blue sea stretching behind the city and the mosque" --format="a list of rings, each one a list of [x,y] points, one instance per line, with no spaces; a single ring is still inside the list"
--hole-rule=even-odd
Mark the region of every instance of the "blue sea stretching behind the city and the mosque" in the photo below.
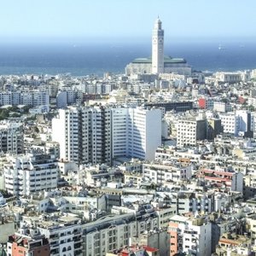
[[[139,43],[2,43],[0,75],[70,73],[73,76],[102,76],[105,72],[125,73],[127,63],[151,55],[150,38],[148,40]],[[194,70],[215,72],[256,68],[254,40],[180,40],[166,43],[165,55],[185,58]]]

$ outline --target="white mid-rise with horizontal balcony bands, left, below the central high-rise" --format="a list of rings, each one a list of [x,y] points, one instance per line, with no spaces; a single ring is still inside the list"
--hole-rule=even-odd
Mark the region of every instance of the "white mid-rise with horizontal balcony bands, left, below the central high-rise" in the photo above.
[[[50,154],[32,152],[9,156],[8,163],[3,167],[5,189],[18,196],[56,189],[57,169],[57,161]]]

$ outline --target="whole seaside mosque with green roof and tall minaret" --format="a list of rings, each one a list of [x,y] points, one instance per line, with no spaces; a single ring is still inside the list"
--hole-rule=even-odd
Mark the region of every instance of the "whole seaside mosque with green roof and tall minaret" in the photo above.
[[[152,57],[137,58],[125,67],[126,75],[143,73],[177,73],[190,75],[191,67],[181,58],[164,56],[164,30],[161,20],[154,22],[152,33]]]

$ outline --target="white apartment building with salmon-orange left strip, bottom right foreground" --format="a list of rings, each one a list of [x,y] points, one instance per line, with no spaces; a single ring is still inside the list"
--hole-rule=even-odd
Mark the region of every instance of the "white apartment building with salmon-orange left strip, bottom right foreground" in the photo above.
[[[207,220],[175,215],[170,219],[168,232],[171,236],[170,256],[178,253],[212,255],[212,224]]]

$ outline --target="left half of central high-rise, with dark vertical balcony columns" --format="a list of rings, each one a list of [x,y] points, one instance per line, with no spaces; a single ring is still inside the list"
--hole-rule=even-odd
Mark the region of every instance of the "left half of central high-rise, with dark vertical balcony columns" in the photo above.
[[[52,140],[60,143],[61,160],[110,163],[110,111],[103,108],[59,109],[52,120]]]

